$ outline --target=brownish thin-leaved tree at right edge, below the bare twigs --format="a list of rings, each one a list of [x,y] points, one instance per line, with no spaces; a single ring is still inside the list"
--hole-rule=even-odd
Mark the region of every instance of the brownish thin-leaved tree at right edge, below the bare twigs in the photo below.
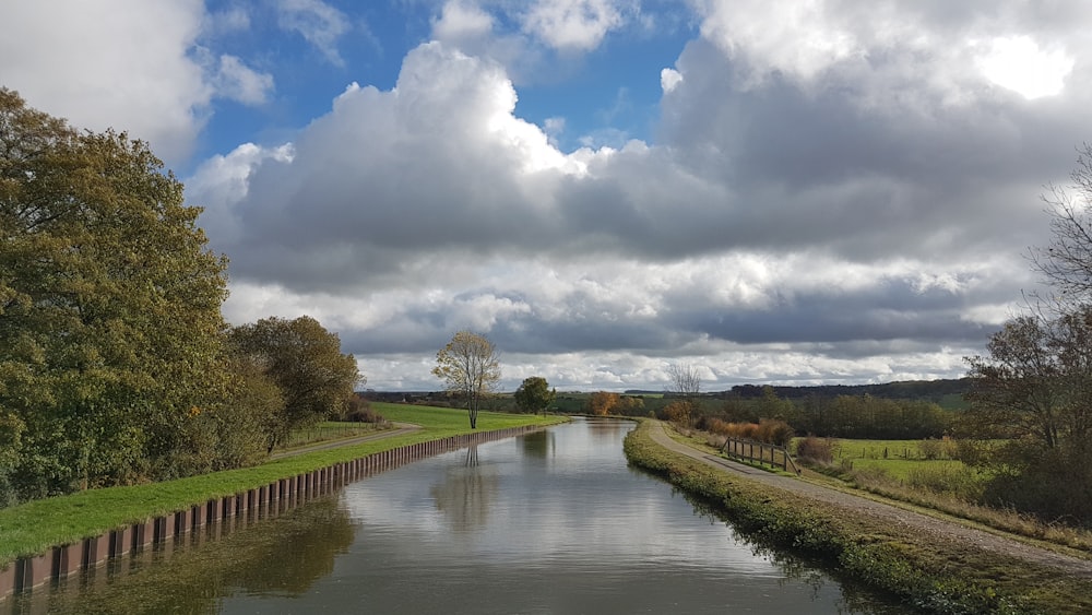
[[[986,499],[1044,519],[1092,524],[1092,307],[1007,322],[971,365],[961,434],[990,470]]]

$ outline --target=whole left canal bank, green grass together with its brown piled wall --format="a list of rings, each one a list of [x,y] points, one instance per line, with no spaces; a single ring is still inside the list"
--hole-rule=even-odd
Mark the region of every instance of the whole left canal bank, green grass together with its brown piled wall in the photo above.
[[[462,416],[465,421],[465,415],[442,410],[435,412],[446,412],[437,423],[439,427],[402,433],[391,440],[312,452],[262,466],[166,484],[83,492],[0,511],[0,539],[7,552],[12,554],[0,560],[0,601],[107,561],[138,555],[207,524],[234,521],[246,517],[248,511],[286,504],[295,506],[368,473],[453,448],[538,430],[561,421],[497,415],[496,425],[514,426],[463,429],[463,433],[438,437],[438,431],[454,430],[450,427],[451,416]],[[206,495],[197,499],[193,493]],[[111,501],[117,502],[119,510],[141,512],[111,511]],[[55,527],[57,531],[52,535],[67,537],[27,547],[26,534],[34,525]]]

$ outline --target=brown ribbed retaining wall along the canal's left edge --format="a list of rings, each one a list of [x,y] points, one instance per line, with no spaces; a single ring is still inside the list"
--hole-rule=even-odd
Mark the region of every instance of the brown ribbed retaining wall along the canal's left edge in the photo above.
[[[543,428],[535,425],[464,434],[375,452],[306,474],[280,478],[244,493],[194,504],[183,510],[123,525],[75,544],[55,546],[44,554],[20,557],[0,569],[0,601],[97,568],[114,559],[136,556],[152,547],[173,544],[175,540],[191,532],[197,534],[197,530],[205,525],[232,524],[234,529],[238,529],[236,525],[265,516],[251,512],[281,512],[348,483],[405,463]]]

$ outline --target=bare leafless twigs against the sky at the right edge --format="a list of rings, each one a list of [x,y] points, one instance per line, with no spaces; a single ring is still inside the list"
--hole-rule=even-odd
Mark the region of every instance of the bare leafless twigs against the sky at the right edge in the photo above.
[[[1058,289],[1063,305],[1092,300],[1092,145],[1078,149],[1068,187],[1047,186],[1042,196],[1054,240],[1030,250],[1032,267]]]

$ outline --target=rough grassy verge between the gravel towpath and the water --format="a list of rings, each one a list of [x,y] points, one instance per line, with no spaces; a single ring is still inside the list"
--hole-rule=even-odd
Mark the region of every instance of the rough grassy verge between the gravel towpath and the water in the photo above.
[[[928,612],[1092,612],[1089,580],[748,482],[657,446],[650,428],[627,437],[630,462],[697,496],[759,545],[826,561]]]

